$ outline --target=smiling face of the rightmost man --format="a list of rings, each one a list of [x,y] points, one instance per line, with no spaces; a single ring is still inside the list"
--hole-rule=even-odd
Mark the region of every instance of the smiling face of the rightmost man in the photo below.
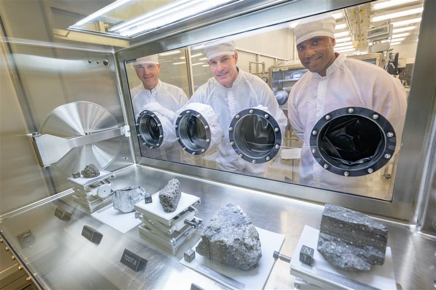
[[[333,50],[335,44],[331,37],[316,36],[299,43],[296,50],[303,66],[311,72],[325,76],[327,68],[336,58]]]

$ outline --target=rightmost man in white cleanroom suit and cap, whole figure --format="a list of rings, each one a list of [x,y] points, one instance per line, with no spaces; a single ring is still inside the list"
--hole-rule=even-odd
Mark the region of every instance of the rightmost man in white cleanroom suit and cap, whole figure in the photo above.
[[[303,141],[300,182],[317,188],[372,195],[381,172],[345,177],[321,167],[309,148],[313,126],[325,114],[344,107],[364,107],[382,114],[397,134],[400,146],[406,113],[406,92],[399,79],[365,61],[334,52],[335,19],[331,15],[310,18],[294,28],[296,49],[309,71],[293,86],[288,116]]]

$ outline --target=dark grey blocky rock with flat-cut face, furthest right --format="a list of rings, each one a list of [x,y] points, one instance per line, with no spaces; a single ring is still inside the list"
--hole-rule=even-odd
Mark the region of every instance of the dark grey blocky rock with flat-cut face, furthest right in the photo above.
[[[369,271],[385,262],[388,228],[360,212],[326,204],[321,220],[318,252],[334,267]]]

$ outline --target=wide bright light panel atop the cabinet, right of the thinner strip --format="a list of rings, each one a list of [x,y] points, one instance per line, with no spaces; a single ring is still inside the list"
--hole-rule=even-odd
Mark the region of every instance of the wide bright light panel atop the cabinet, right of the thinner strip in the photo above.
[[[133,36],[141,32],[147,32],[177,22],[233,1],[234,0],[180,0],[133,18],[121,25],[116,25],[110,28],[109,31],[116,32],[123,36]]]

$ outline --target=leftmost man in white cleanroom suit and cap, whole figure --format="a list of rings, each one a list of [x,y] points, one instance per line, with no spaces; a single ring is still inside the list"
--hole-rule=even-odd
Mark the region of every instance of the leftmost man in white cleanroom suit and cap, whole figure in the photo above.
[[[159,79],[161,63],[157,54],[137,58],[133,63],[137,77],[142,84],[130,90],[135,121],[143,110],[150,110],[160,118],[164,128],[164,141],[160,149],[146,149],[145,157],[157,157],[168,161],[181,162],[182,150],[175,140],[172,123],[175,111],[188,101],[185,92]]]

